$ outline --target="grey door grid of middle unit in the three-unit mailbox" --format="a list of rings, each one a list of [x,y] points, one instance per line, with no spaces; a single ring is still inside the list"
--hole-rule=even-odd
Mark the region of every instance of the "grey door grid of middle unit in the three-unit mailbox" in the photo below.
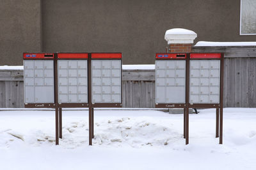
[[[58,60],[58,103],[88,103],[87,60]]]

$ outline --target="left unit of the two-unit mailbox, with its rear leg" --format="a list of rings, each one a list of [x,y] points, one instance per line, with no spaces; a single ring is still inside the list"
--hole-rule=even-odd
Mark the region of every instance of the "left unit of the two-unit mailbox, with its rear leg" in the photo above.
[[[186,60],[188,60],[187,53],[156,53],[156,108],[184,109],[184,138],[185,118],[188,115]]]

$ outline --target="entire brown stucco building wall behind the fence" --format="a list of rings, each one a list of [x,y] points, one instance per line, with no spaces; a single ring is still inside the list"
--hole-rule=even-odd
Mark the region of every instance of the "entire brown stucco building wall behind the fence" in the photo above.
[[[196,41],[256,41],[239,35],[240,0],[0,2],[0,65],[22,65],[22,52],[40,50],[123,52],[124,64],[153,64],[173,27],[195,31]]]

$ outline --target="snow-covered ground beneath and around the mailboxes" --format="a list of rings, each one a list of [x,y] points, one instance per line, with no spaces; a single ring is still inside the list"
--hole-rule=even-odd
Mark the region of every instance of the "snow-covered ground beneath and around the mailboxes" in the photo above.
[[[0,111],[0,169],[256,169],[256,109],[224,110],[223,145],[215,110],[183,116],[156,110],[95,110],[88,146],[88,111],[63,111],[55,145],[54,111]]]

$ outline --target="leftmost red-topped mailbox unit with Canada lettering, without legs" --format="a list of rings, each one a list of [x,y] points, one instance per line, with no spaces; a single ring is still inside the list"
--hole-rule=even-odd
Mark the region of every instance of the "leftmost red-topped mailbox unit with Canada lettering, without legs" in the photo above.
[[[54,53],[23,53],[25,108],[54,108]]]

